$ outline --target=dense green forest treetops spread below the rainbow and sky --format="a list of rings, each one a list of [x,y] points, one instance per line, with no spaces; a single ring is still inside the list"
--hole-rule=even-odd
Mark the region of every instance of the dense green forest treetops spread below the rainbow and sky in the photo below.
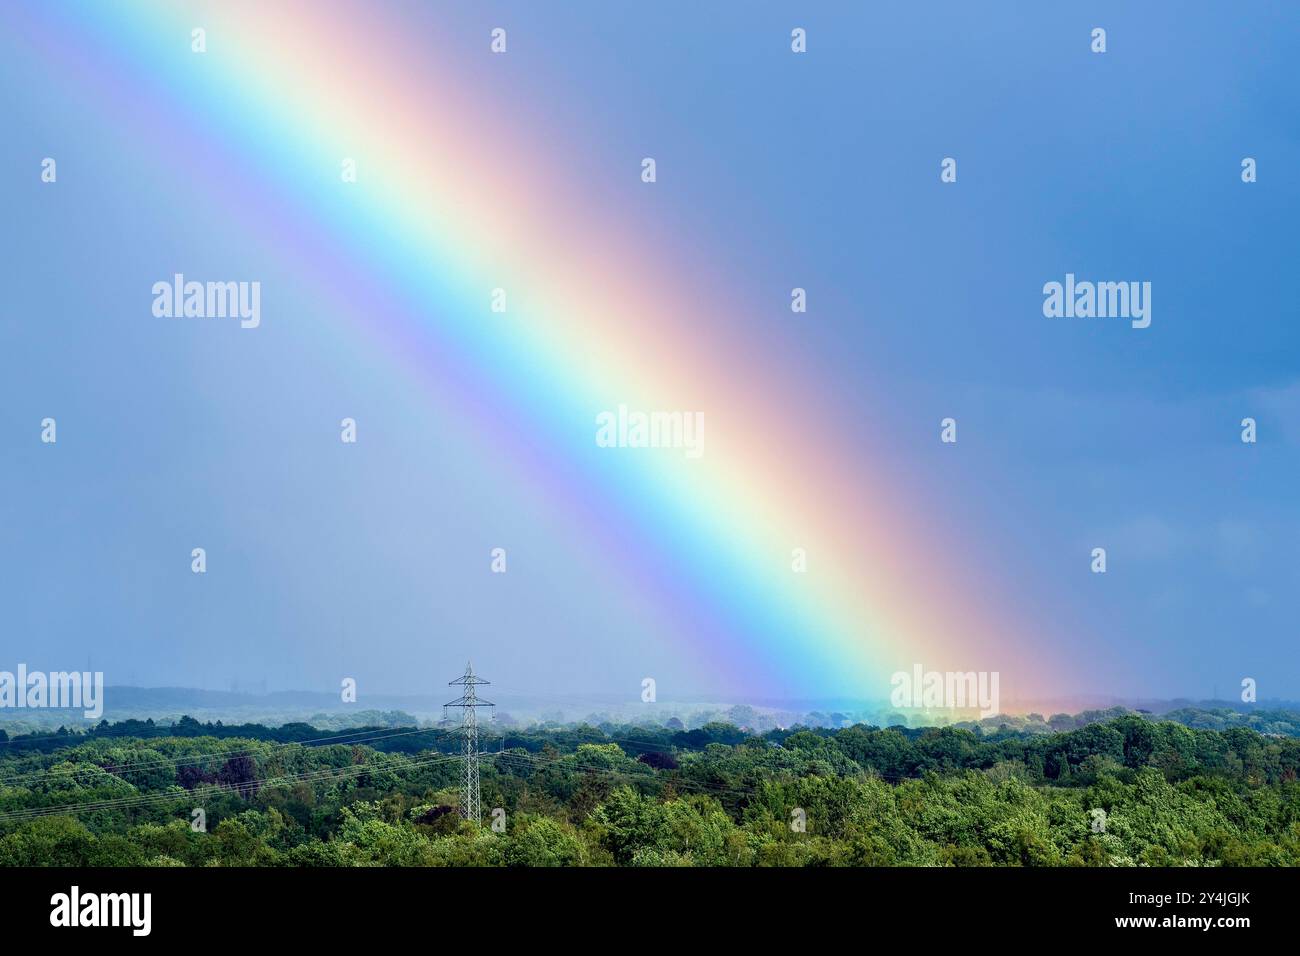
[[[103,722],[0,739],[0,865],[1300,864],[1300,739],[1180,717],[511,730],[478,825],[450,727]]]

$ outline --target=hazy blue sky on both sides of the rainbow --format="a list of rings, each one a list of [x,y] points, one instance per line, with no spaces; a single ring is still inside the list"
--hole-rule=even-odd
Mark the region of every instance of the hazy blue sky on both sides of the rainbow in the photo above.
[[[771,299],[767,346],[822,369],[844,441],[889,449],[963,559],[1079,662],[1075,689],[1227,695],[1254,676],[1264,697],[1300,697],[1300,9],[408,16],[474,35],[508,18],[514,69],[542,92],[521,99],[481,66],[465,83],[503,122],[547,117],[576,169],[659,157],[671,202],[620,200],[597,176],[593,202],[697,250],[708,281]],[[231,243],[183,190],[142,179],[94,91],[21,46],[0,39],[0,667],[88,658],[109,683],[311,689],[343,672],[413,692],[452,676],[471,643],[521,689],[634,689],[644,672],[716,685],[519,477],[454,429],[439,447],[404,441],[438,411],[376,373],[372,342],[268,325],[250,352],[130,312],[177,250],[208,274],[277,282],[289,308],[318,303],[256,237]],[[178,137],[161,161],[208,148]],[[47,155],[55,187],[38,178]],[[945,156],[957,183],[939,182]],[[1245,156],[1258,182],[1242,182]],[[1043,284],[1067,272],[1149,281],[1150,328],[1044,317]],[[790,276],[812,303],[797,328],[777,325]],[[737,317],[732,334],[758,333]],[[368,423],[364,463],[330,444],[343,414]],[[39,444],[46,415],[57,458]],[[945,416],[957,449],[935,441]],[[1256,445],[1239,440],[1244,416]],[[545,574],[478,574],[503,535]],[[200,540],[222,555],[202,589]],[[1095,546],[1104,576],[1088,572]],[[430,579],[430,554],[467,570]]]

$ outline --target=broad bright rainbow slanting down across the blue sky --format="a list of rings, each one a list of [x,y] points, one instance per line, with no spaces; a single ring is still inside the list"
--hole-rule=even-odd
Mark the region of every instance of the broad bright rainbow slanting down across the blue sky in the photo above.
[[[238,182],[222,215],[508,457],[640,600],[689,622],[701,667],[785,696],[885,697],[916,662],[1001,669],[1008,696],[1052,689],[1041,636],[994,606],[974,549],[927,525],[905,476],[841,446],[842,410],[772,388],[816,369],[760,343],[738,355],[702,317],[746,306],[679,278],[689,243],[666,251],[590,203],[545,127],[458,83],[448,44],[341,0],[213,5],[202,56],[194,14],[169,3],[6,16],[25,26],[10,55],[48,62],[142,164],[166,174],[188,143],[172,176],[200,194]],[[640,160],[629,189],[666,190]],[[597,447],[595,416],[620,405],[701,411],[706,453]]]

